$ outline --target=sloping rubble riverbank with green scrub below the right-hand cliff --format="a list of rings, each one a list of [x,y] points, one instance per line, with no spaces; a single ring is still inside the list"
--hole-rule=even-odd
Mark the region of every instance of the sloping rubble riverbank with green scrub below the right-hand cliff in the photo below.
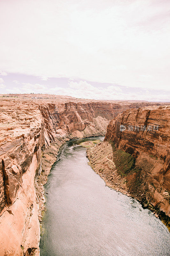
[[[117,152],[113,154],[112,144],[108,141],[103,141],[96,147],[88,148],[86,151],[89,159],[89,165],[92,167],[94,172],[100,175],[108,187],[116,190],[117,192],[121,192],[126,196],[137,199],[144,208],[151,210],[155,217],[159,218],[170,231],[169,222],[164,216],[162,216],[159,209],[156,209],[156,207],[154,208],[151,204],[146,204],[145,196],[137,193],[137,184],[134,184],[133,193],[128,189],[127,176],[137,173],[137,170],[132,168],[133,159],[129,159],[125,155],[118,155],[119,152]],[[122,169],[124,168],[126,168],[127,173],[122,172]],[[133,172],[129,172],[128,169],[133,169]],[[138,180],[138,182],[138,186],[140,186],[140,180]]]

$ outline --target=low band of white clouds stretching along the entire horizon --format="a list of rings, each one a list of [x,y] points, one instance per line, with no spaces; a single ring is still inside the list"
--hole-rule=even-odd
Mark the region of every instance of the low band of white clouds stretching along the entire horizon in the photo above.
[[[54,83],[54,79],[52,81]],[[130,87],[127,88],[115,84],[104,84],[102,86],[102,84],[97,85],[96,83],[87,82],[85,80],[70,79],[68,80],[68,84],[65,87],[62,87],[62,85],[50,85],[49,79],[48,85],[37,83],[22,83],[17,87],[5,89],[4,84],[1,84],[0,88],[4,93],[48,93],[96,100],[169,101],[170,99],[169,91],[150,89],[146,90],[143,88],[135,88],[134,90]]]

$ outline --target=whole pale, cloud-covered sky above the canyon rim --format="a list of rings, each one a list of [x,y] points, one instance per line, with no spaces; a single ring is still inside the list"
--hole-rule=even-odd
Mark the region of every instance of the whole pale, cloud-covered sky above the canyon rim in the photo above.
[[[170,101],[170,1],[1,0],[0,93]]]

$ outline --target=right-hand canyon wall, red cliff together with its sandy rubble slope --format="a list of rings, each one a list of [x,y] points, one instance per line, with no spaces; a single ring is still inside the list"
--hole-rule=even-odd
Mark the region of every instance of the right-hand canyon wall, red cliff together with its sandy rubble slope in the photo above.
[[[170,106],[125,110],[87,156],[108,186],[136,198],[170,230]]]

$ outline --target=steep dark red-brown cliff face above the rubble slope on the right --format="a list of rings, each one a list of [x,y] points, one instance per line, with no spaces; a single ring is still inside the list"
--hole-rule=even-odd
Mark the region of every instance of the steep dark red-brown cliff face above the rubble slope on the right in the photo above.
[[[127,189],[170,228],[170,106],[124,111],[108,124],[105,141],[135,158]]]

